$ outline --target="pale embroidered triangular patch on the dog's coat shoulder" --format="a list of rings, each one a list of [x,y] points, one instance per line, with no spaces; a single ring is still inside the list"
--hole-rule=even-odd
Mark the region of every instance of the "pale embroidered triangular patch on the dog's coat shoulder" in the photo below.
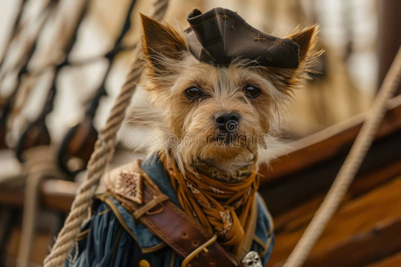
[[[107,191],[142,204],[142,176],[140,160],[120,166],[108,172],[104,177]]]

